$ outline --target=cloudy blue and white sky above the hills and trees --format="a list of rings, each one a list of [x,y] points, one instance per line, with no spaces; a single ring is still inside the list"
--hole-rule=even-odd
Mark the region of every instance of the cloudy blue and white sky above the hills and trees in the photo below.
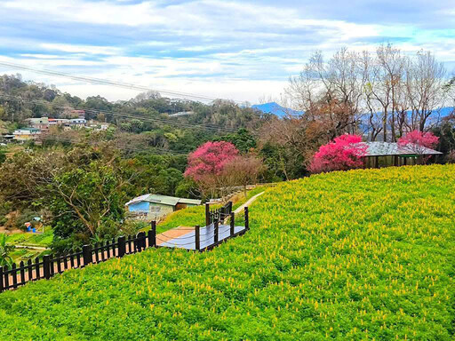
[[[455,71],[454,0],[2,0],[0,61],[236,101],[279,97],[315,51],[435,53]],[[140,91],[0,67],[81,98]]]

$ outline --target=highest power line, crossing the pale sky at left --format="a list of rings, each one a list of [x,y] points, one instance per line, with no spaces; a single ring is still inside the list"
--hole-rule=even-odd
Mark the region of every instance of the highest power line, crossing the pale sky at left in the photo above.
[[[46,69],[38,69],[38,68],[35,68],[35,67],[28,67],[26,65],[10,63],[10,62],[6,62],[6,61],[0,61],[0,66],[1,67],[12,67],[12,68],[20,69],[20,70],[25,70],[25,71],[31,71],[31,72],[35,72],[37,74],[42,74],[42,75],[53,75],[53,76],[57,76],[57,77],[64,77],[64,78],[73,79],[75,81],[82,81],[82,82],[88,82],[88,83],[96,83],[96,84],[100,84],[100,85],[115,86],[115,87],[118,87],[118,88],[124,88],[124,89],[130,89],[130,90],[156,91],[156,92],[164,93],[164,94],[167,94],[167,95],[170,95],[170,96],[181,97],[183,99],[196,99],[196,100],[206,100],[206,101],[216,100],[216,98],[213,98],[213,97],[196,95],[196,94],[192,94],[192,93],[189,93],[189,92],[151,89],[151,88],[148,88],[146,86],[136,85],[136,84],[132,84],[132,83],[122,83],[122,82],[109,81],[109,80],[106,80],[106,79],[95,78],[95,77],[86,77],[86,76],[81,76],[81,75],[71,75],[71,74],[64,73],[64,72],[57,72],[57,71],[46,70]],[[235,102],[237,104],[241,104],[241,102],[239,102],[239,101],[233,100],[233,102]]]

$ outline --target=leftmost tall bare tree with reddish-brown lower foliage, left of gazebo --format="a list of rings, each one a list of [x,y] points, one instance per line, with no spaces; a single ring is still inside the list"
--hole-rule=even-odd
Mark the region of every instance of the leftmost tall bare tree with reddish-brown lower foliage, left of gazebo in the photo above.
[[[329,139],[358,132],[367,81],[361,59],[361,54],[341,49],[325,62],[322,53],[315,52],[300,75],[290,79],[286,92],[307,120],[327,126]]]

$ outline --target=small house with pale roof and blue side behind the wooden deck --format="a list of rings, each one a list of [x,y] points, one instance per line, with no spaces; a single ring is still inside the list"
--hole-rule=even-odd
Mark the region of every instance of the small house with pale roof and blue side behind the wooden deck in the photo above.
[[[201,201],[196,199],[177,198],[161,194],[145,194],[126,202],[125,206],[132,216],[158,219],[175,210],[200,204]]]

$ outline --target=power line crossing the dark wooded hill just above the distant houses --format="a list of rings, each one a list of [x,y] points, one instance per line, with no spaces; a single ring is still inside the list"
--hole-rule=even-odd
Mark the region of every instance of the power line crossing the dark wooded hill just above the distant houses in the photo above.
[[[63,110],[68,109],[68,107],[57,106],[54,103],[47,102],[42,99],[25,99],[20,96],[12,96],[12,95],[2,94],[2,93],[0,93],[0,99],[20,101],[20,102],[25,102],[28,104],[52,106],[52,107],[63,109]],[[121,113],[121,112],[108,111],[108,110],[98,110],[98,109],[91,109],[91,108],[85,108],[85,107],[70,107],[70,108],[75,109],[75,110],[84,110],[85,112],[92,113],[92,114],[104,114],[104,115],[110,115],[110,116],[117,116],[117,117],[121,117],[121,118],[125,118],[125,119],[137,119],[137,120],[140,120],[143,122],[148,122],[148,123],[161,123],[161,124],[169,124],[169,125],[175,124],[175,125],[180,125],[184,128],[198,128],[198,129],[205,129],[205,130],[210,130],[210,131],[220,131],[220,132],[226,132],[226,133],[235,132],[235,129],[220,127],[220,126],[217,126],[214,124],[182,123],[182,122],[174,121],[174,120],[166,120],[164,118],[144,117],[144,116],[133,115],[133,114],[129,114],[129,113]]]

